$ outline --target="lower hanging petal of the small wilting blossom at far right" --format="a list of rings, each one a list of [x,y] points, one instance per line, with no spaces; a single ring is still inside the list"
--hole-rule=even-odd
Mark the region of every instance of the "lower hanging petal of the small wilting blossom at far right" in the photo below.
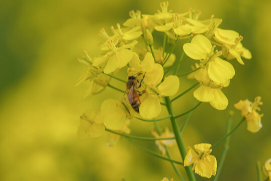
[[[245,118],[247,121],[247,130],[248,131],[250,131],[252,133],[256,133],[262,127],[261,122],[260,122],[260,116],[257,112],[252,111]]]

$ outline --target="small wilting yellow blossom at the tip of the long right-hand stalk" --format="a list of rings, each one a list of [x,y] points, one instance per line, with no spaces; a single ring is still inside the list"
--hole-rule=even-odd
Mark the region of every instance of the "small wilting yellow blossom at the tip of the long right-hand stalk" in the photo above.
[[[259,115],[259,113],[257,112],[260,111],[260,108],[258,106],[262,105],[262,102],[260,102],[260,100],[260,97],[256,97],[253,103],[248,100],[240,100],[234,105],[236,109],[241,110],[241,115],[245,117],[247,122],[247,130],[252,133],[258,132],[262,127],[261,117],[263,116],[263,114]]]

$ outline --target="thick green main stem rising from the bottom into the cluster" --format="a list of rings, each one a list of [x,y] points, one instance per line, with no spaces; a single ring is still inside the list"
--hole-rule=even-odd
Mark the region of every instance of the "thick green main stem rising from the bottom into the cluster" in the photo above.
[[[174,118],[174,112],[173,112],[172,104],[171,104],[169,97],[165,97],[165,104],[166,104],[168,114],[171,115],[170,121],[171,121],[172,129],[173,129],[173,132],[174,132],[174,135],[176,138],[176,142],[177,142],[177,145],[178,145],[178,148],[180,151],[180,155],[182,156],[182,158],[184,160],[187,155],[187,151],[186,151],[182,136],[179,133],[179,128],[178,128],[177,122]],[[190,181],[195,181],[196,178],[195,178],[194,172],[192,171],[192,166],[185,166],[185,170],[186,170],[188,179]]]

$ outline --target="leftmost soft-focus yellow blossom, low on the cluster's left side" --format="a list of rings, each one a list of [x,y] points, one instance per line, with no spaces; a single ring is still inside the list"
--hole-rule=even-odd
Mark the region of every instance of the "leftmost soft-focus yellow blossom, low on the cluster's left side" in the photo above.
[[[77,136],[80,140],[98,138],[105,133],[105,125],[98,111],[87,110],[80,116]]]

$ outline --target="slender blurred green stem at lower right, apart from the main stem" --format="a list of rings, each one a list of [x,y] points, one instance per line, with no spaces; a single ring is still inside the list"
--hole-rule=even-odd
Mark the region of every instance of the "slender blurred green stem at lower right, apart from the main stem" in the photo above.
[[[230,132],[231,124],[232,124],[232,114],[229,115],[226,134],[228,134]],[[223,165],[223,163],[224,163],[224,161],[226,159],[226,155],[227,155],[227,152],[229,150],[229,146],[230,146],[230,136],[228,136],[227,139],[226,139],[226,143],[225,143],[225,146],[224,146],[224,150],[223,150],[220,162],[219,162],[218,167],[217,167],[217,172],[216,172],[214,181],[218,180],[219,174],[220,174],[221,169],[222,169],[222,165]]]

